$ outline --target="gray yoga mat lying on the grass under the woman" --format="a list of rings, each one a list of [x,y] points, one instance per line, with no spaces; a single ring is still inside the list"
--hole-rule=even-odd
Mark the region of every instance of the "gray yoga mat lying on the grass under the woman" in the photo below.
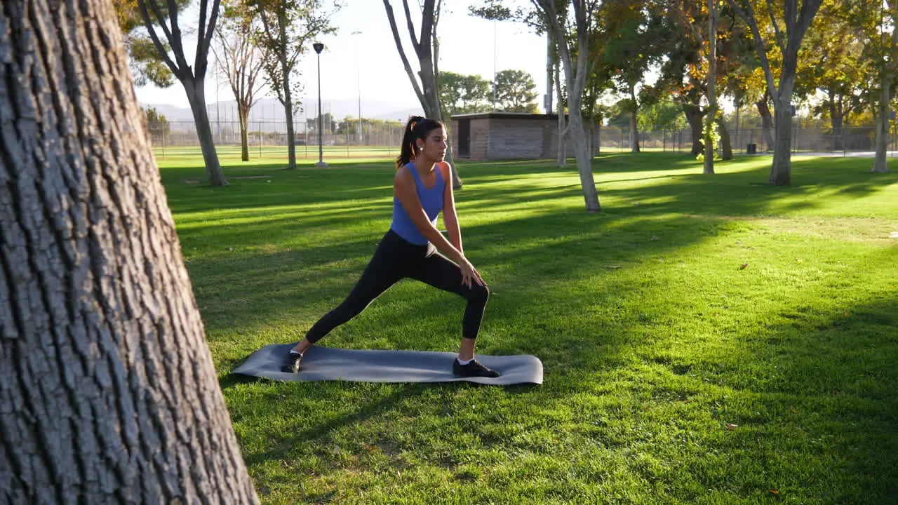
[[[235,374],[284,381],[348,380],[356,382],[455,382],[542,384],[542,363],[535,356],[485,356],[477,360],[499,377],[455,377],[454,352],[429,350],[351,350],[314,346],[305,351],[298,374],[280,371],[294,344],[271,344],[252,353]]]

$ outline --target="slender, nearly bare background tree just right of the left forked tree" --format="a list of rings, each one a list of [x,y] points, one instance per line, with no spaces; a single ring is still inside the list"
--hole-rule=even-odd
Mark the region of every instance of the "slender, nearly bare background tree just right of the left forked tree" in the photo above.
[[[216,28],[218,44],[212,47],[237,102],[241,160],[244,162],[250,161],[250,111],[259,101],[256,95],[264,84],[260,79],[264,59],[255,44],[258,26],[254,27],[254,22],[250,8],[243,0],[225,1],[222,23]]]

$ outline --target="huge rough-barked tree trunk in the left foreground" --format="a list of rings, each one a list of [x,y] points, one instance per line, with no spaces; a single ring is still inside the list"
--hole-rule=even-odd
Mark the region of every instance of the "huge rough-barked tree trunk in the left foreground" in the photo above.
[[[3,502],[258,502],[112,4],[3,5]]]

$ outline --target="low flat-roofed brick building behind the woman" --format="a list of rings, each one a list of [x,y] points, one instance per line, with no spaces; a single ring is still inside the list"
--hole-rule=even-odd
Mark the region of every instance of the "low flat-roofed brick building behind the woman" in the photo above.
[[[470,160],[539,159],[558,155],[556,114],[482,112],[452,117],[449,137],[456,158]],[[598,137],[595,129],[594,137]],[[568,156],[574,146],[568,137]],[[598,142],[594,141],[594,146]]]

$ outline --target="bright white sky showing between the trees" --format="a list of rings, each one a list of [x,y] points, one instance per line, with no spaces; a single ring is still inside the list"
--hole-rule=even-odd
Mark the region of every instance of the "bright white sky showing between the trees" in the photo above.
[[[441,71],[465,75],[480,75],[491,80],[494,71],[524,70],[533,76],[542,110],[542,95],[546,89],[546,39],[528,27],[515,22],[491,22],[468,13],[468,5],[477,0],[462,2],[447,0],[437,25],[440,39]],[[418,59],[409,46],[409,31],[401,0],[392,0],[401,40],[413,71],[418,71]],[[361,99],[362,116],[368,109],[401,109],[418,107],[418,98],[409,82],[396,43],[392,37],[386,9],[380,0],[349,0],[333,18],[339,27],[336,35],[321,37],[325,49],[321,53],[321,101],[353,101]],[[415,12],[418,2],[409,2],[416,32],[420,31],[420,14]],[[354,33],[359,32],[359,33]],[[189,44],[192,47],[194,44]],[[213,56],[209,55],[210,60]],[[317,98],[316,55],[310,50],[299,63],[300,81],[304,83],[306,102]],[[417,75],[416,75],[417,77]],[[224,77],[216,93],[215,75],[207,75],[207,102],[233,100]],[[189,107],[187,95],[180,83],[172,88],[159,89],[153,85],[136,88],[137,100],[144,104],[168,104]],[[273,95],[267,94],[266,98]],[[374,111],[368,113],[373,114]]]

